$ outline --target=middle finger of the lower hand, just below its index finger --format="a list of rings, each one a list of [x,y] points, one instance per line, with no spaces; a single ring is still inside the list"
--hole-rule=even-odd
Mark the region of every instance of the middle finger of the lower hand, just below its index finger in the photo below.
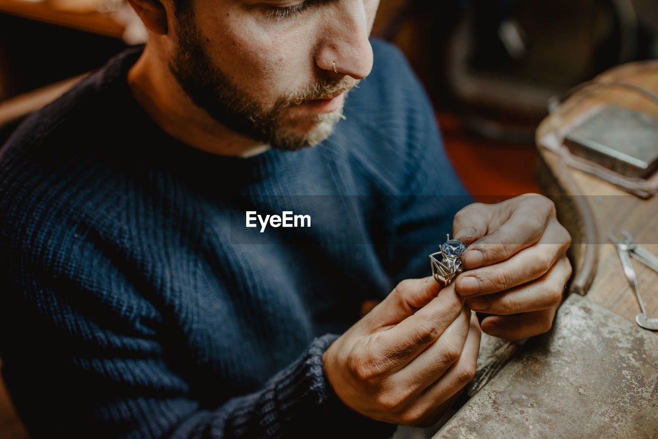
[[[411,396],[438,380],[459,359],[468,336],[469,323],[470,310],[463,308],[434,344],[391,376],[392,386],[406,388]]]

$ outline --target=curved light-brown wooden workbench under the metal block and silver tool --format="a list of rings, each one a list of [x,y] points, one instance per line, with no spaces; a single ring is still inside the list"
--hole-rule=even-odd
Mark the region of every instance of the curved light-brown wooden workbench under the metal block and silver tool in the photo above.
[[[601,74],[596,81],[618,81],[658,93],[658,61],[620,66]],[[636,242],[658,255],[658,197],[641,199],[580,170],[567,167],[561,157],[542,144],[551,132],[601,103],[615,103],[658,118],[658,105],[639,93],[598,86],[584,89],[565,101],[537,130],[538,150],[543,161],[540,180],[554,199],[560,219],[574,236],[573,261],[576,275],[572,291],[611,311],[635,321],[638,301],[624,276],[615,245],[608,239],[613,230],[628,230]],[[658,142],[658,140],[657,140]],[[658,147],[658,144],[657,144]],[[633,261],[649,317],[658,316],[658,273]]]

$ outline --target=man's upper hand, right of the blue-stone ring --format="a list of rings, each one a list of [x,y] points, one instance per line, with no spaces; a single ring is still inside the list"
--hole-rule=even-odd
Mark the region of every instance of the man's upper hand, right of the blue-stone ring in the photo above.
[[[453,233],[472,243],[463,257],[467,271],[455,280],[457,293],[474,311],[495,314],[482,321],[482,331],[519,340],[551,328],[571,275],[565,256],[571,237],[552,201],[528,194],[468,205],[455,215]]]

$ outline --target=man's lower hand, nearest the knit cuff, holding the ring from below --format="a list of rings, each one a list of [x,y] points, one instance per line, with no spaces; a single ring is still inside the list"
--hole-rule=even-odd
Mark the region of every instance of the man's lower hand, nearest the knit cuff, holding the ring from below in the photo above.
[[[362,415],[433,425],[474,376],[480,348],[475,313],[453,285],[400,282],[322,357],[338,397]]]

